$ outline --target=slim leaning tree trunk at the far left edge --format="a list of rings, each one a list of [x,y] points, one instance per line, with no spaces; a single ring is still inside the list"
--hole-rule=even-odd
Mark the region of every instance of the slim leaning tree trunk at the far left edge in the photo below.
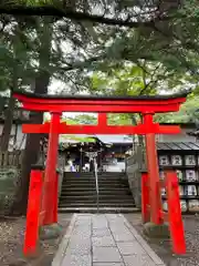
[[[8,151],[8,149],[9,149],[9,141],[10,141],[10,134],[11,134],[11,130],[12,130],[14,105],[15,105],[15,99],[12,96],[12,93],[11,93],[10,99],[9,99],[9,104],[8,104],[8,108],[6,111],[6,115],[4,115],[4,126],[3,126],[2,136],[1,136],[0,150],[2,152]]]

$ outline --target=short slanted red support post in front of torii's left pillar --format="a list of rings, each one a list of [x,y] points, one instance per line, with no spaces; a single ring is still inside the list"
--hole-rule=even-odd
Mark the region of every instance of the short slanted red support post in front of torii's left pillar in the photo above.
[[[40,205],[42,196],[42,171],[32,170],[29,186],[29,202],[27,209],[27,228],[24,235],[23,254],[31,256],[36,253],[40,225]]]

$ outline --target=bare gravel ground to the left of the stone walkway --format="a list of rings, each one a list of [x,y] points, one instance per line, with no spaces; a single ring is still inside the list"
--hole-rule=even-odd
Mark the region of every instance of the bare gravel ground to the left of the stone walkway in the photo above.
[[[71,221],[72,214],[59,216],[63,233]],[[25,259],[22,254],[25,218],[0,219],[0,266],[50,266],[62,235],[57,239],[41,242],[36,258]]]

